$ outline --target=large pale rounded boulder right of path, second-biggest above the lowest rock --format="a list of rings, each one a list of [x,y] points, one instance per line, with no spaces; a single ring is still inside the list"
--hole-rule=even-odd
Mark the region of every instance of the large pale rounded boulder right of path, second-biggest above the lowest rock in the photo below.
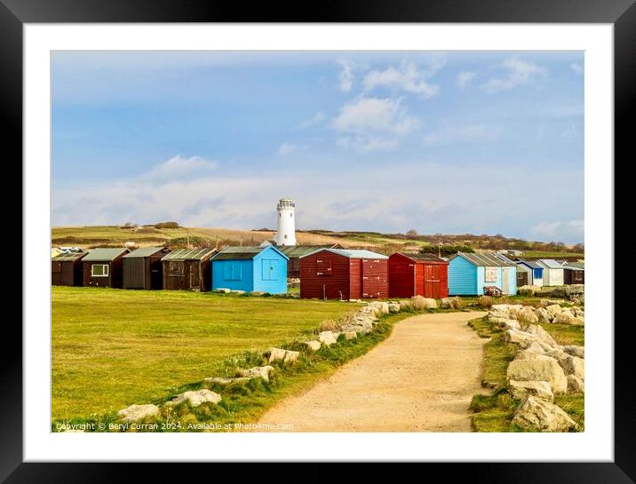
[[[516,381],[545,381],[550,384],[553,393],[566,393],[568,379],[558,361],[550,356],[531,352],[520,352],[508,365],[506,379]]]

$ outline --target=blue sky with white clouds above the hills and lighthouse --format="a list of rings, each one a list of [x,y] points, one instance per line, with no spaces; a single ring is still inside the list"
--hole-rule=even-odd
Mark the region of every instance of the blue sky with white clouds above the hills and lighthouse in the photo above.
[[[583,52],[52,52],[52,226],[584,241]]]

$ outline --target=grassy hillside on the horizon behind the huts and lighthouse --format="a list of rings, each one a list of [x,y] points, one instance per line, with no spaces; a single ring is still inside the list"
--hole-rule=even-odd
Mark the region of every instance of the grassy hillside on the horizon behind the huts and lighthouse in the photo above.
[[[474,234],[382,234],[379,232],[334,232],[330,230],[297,231],[298,244],[319,245],[339,243],[348,248],[364,248],[382,253],[417,251],[428,248],[437,251],[440,242],[469,245],[475,250],[523,250],[529,258],[584,258],[581,245],[560,242],[529,242],[522,239],[496,235]],[[137,242],[140,246],[169,243],[171,247],[214,247],[223,245],[258,245],[271,240],[274,230],[235,230],[227,228],[155,226],[67,226],[52,228],[52,245],[75,245],[85,249],[94,247],[121,247],[125,242]]]

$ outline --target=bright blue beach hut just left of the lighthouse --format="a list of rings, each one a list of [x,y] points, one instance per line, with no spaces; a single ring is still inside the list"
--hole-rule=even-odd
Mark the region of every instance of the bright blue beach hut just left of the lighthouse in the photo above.
[[[226,247],[211,258],[212,289],[287,292],[289,258],[273,245]]]

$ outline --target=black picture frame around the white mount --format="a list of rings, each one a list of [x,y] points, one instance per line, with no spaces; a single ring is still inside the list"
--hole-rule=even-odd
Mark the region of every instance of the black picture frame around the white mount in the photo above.
[[[25,23],[73,22],[452,22],[452,23],[607,23],[614,26],[615,47],[615,177],[616,194],[630,194],[626,183],[631,177],[628,158],[633,138],[632,122],[636,114],[636,5],[634,0],[355,0],[321,3],[258,3],[196,0],[0,0],[0,128],[7,159],[22,159],[22,28]],[[502,43],[502,48],[505,43]],[[7,163],[4,175],[12,176],[13,189],[0,194],[4,207],[13,208],[15,186],[21,179],[20,163]],[[608,166],[608,170],[611,169]],[[11,173],[11,170],[14,173]],[[620,184],[625,184],[620,190]],[[20,189],[19,189],[20,190]],[[616,198],[615,220],[626,208]],[[15,213],[21,224],[21,213]],[[631,218],[625,218],[630,219]],[[628,226],[630,224],[627,224]],[[615,251],[629,251],[631,239],[627,227],[616,224]],[[15,241],[1,242],[15,251]],[[24,254],[21,254],[24,257]],[[608,263],[614,264],[613,260]],[[626,273],[615,271],[618,287]],[[14,294],[18,282],[2,280],[5,295]],[[7,298],[8,299],[8,298]],[[12,298],[18,305],[17,298]],[[8,302],[8,301],[7,301]],[[18,308],[21,313],[21,305]],[[616,318],[615,318],[616,319]],[[8,318],[4,318],[9,325]],[[13,319],[13,321],[15,321]],[[470,479],[489,483],[628,483],[636,481],[636,396],[632,383],[629,338],[631,320],[616,324],[615,331],[615,458],[612,463],[466,463],[423,464],[430,475],[444,473],[444,480]],[[612,321],[604,321],[611,328]],[[5,329],[9,331],[9,329]],[[7,335],[9,333],[5,333]],[[181,465],[175,464],[60,464],[23,463],[22,457],[22,337],[20,328],[12,328],[12,344],[0,351],[0,480],[17,482],[141,482],[158,479],[183,479]],[[493,456],[496,459],[497,456]],[[284,461],[284,456],[281,456]],[[213,472],[220,476],[236,464],[190,464],[191,472]],[[319,470],[284,471],[283,479],[324,480],[340,472],[329,469],[338,464],[323,464]],[[374,464],[367,470],[376,477],[382,473]],[[241,466],[241,479],[263,478],[278,474],[274,469]],[[265,472],[265,474],[264,474]],[[298,473],[299,472],[299,473]],[[387,472],[387,470],[384,470]],[[395,477],[393,471],[389,476]],[[139,477],[143,476],[143,477]],[[294,477],[295,476],[295,477]]]

